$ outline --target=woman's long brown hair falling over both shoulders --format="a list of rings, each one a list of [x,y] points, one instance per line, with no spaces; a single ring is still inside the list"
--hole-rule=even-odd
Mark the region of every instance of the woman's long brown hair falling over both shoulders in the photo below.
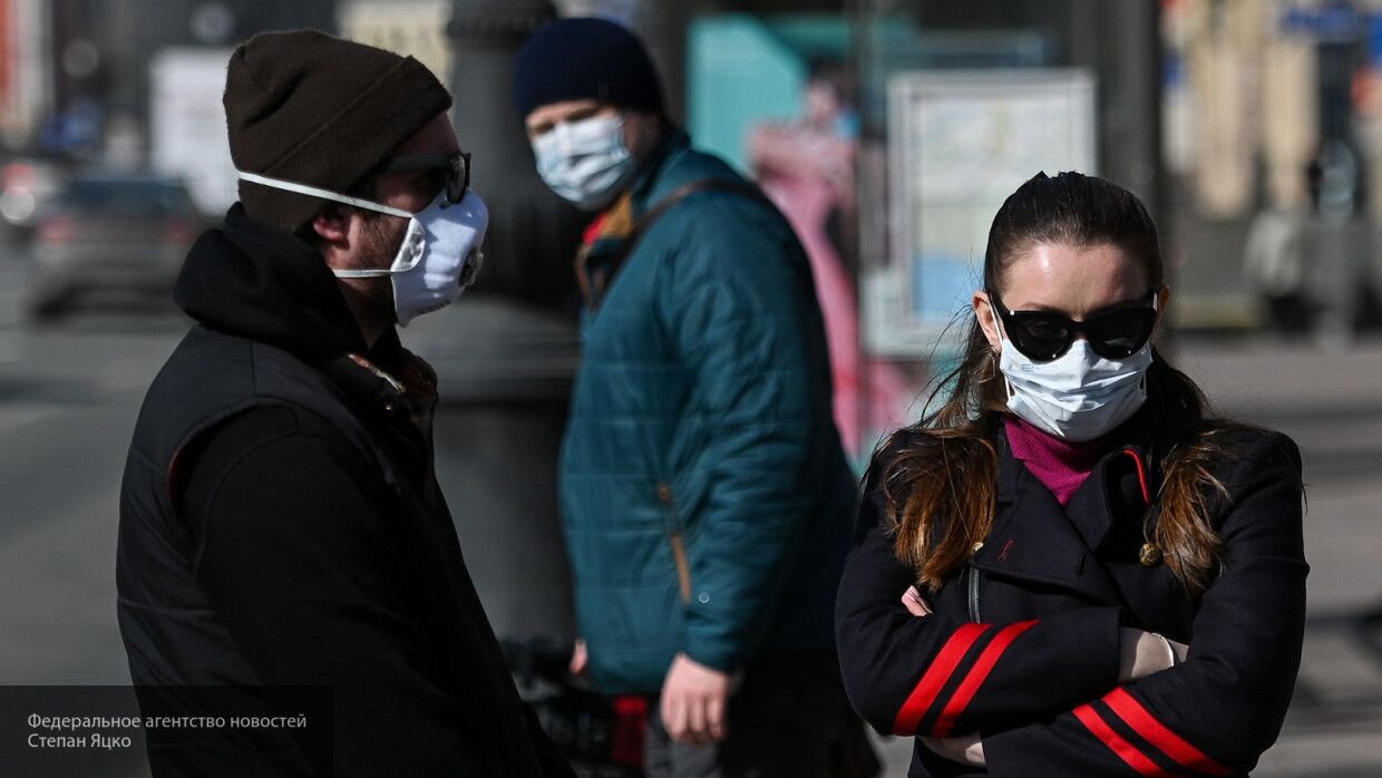
[[[984,252],[984,289],[1001,293],[1014,260],[1034,246],[1052,243],[1110,243],[1142,264],[1153,289],[1162,283],[1157,227],[1132,192],[1079,173],[1038,173],[994,217]],[[998,354],[977,321],[969,323],[963,354],[959,366],[936,383],[922,420],[897,433],[915,442],[883,473],[894,553],[916,568],[918,580],[931,591],[965,564],[976,542],[988,536],[996,513],[998,450],[992,441],[1007,412],[1006,394]],[[943,398],[938,406],[937,398]],[[1154,540],[1166,567],[1187,591],[1198,594],[1219,558],[1211,499],[1215,492],[1227,493],[1212,473],[1226,456],[1215,437],[1234,424],[1212,415],[1200,387],[1155,348],[1147,370],[1147,404],[1158,419],[1171,415],[1187,423],[1187,431],[1157,463],[1162,481]]]

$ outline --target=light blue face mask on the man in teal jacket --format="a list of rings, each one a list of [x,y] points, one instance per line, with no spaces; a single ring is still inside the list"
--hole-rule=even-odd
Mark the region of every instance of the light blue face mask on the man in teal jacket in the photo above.
[[[538,135],[532,152],[547,187],[582,210],[609,205],[634,170],[622,116],[562,122]]]

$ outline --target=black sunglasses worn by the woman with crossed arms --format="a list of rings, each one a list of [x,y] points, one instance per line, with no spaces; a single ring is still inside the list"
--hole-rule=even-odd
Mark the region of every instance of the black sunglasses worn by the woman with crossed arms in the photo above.
[[[1049,362],[1070,351],[1077,334],[1085,336],[1089,348],[1106,359],[1124,359],[1142,351],[1157,325],[1158,292],[1159,287],[1151,290],[1147,305],[1114,308],[1082,322],[1050,311],[1009,311],[996,292],[990,292],[988,297],[1017,351]]]

